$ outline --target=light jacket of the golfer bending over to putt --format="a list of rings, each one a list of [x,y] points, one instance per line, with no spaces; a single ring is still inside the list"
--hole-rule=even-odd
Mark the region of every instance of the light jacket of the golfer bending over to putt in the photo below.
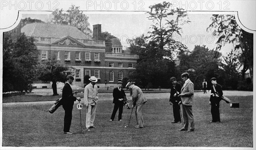
[[[147,99],[145,98],[145,96],[143,95],[143,93],[142,93],[142,91],[139,87],[134,85],[131,90],[132,90],[131,97],[132,97],[132,104],[133,105],[138,106],[138,105],[141,105],[144,102],[147,102]]]

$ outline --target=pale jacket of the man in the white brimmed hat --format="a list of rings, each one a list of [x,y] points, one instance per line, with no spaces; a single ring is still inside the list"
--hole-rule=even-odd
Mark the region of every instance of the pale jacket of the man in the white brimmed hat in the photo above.
[[[97,85],[93,85],[90,83],[84,88],[84,105],[95,105],[97,104],[99,99],[98,96],[98,87]]]

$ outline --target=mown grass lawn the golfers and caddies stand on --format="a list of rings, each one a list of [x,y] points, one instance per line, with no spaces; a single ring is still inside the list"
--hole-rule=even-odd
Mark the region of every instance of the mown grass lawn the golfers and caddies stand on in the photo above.
[[[145,93],[145,96],[148,102],[143,110],[144,128],[134,128],[134,112],[130,126],[125,127],[131,114],[131,109],[126,108],[122,121],[116,121],[116,114],[115,121],[109,122],[113,110],[112,93],[100,93],[94,122],[97,128],[85,130],[86,111],[83,108],[80,133],[76,102],[70,129],[73,135],[63,133],[62,107],[53,114],[47,111],[52,102],[4,103],[3,147],[253,147],[253,96],[229,96],[233,102],[239,102],[240,107],[230,108],[222,101],[221,123],[209,123],[209,94],[195,93],[195,132],[190,133],[177,131],[182,124],[171,123],[169,93]],[[21,96],[16,98],[22,99]],[[33,96],[26,99],[33,99]]]

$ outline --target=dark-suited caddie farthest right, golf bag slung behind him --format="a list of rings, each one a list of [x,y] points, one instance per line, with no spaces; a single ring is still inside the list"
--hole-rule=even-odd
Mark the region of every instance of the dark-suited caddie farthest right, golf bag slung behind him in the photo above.
[[[209,100],[209,104],[211,105],[211,113],[212,113],[212,121],[210,122],[221,122],[220,119],[220,101],[221,96],[223,95],[222,87],[217,83],[216,78],[211,79],[212,87],[211,87],[211,97]]]

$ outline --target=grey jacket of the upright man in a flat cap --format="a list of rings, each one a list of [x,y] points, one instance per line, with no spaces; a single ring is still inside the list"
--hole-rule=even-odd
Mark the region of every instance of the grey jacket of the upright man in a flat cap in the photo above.
[[[181,93],[185,94],[181,96],[181,102],[183,105],[192,106],[194,99],[194,84],[188,79],[181,88]]]

